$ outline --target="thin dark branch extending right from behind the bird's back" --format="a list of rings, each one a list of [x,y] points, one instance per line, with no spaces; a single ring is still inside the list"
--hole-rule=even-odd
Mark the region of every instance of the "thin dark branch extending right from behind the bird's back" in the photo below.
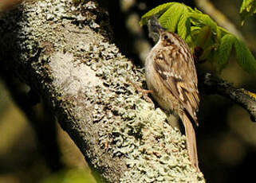
[[[233,84],[219,79],[211,73],[199,76],[199,87],[207,94],[223,95],[242,106],[250,114],[250,119],[256,122],[256,94],[243,88],[234,88]]]

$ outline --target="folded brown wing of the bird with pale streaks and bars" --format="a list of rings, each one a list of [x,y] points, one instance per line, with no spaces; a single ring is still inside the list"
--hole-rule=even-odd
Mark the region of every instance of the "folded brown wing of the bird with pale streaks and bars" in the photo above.
[[[154,68],[160,76],[164,86],[183,103],[195,123],[195,112],[199,108],[199,91],[197,88],[197,75],[191,53],[182,55],[176,46],[159,49],[154,56]]]

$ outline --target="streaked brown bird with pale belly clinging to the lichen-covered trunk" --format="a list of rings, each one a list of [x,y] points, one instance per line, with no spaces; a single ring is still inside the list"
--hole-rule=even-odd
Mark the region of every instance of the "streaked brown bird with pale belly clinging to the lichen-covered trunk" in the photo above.
[[[145,61],[148,90],[164,111],[178,115],[183,122],[189,158],[199,170],[193,126],[199,126],[199,91],[193,54],[186,41],[164,29],[156,17],[148,21],[148,30],[149,37],[158,39]]]

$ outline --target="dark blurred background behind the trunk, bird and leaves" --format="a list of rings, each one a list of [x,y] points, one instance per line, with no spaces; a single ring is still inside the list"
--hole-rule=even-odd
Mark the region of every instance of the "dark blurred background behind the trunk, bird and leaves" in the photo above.
[[[102,0],[101,2],[109,11],[114,33],[113,42],[139,67],[143,65],[145,56],[152,46],[152,41],[148,39],[147,28],[141,28],[139,25],[140,17],[164,2],[170,1]],[[196,6],[195,1],[176,2],[183,2],[191,7]],[[255,56],[255,17],[251,17],[241,27],[238,15],[241,1],[215,0],[212,3],[242,33],[246,45]],[[215,72],[209,63],[197,65],[197,68],[199,72]],[[21,111],[18,106],[24,105],[27,101],[27,91],[30,89],[19,84],[18,80],[8,80],[7,78],[10,77],[4,70],[0,72],[2,76],[0,183],[63,182],[64,180],[66,182],[72,180],[70,182],[73,183],[96,182],[80,151],[57,125],[53,116],[47,112],[47,108],[45,109],[42,104],[31,108],[39,119],[29,112]],[[238,88],[256,92],[256,75],[242,71],[234,57],[230,58],[230,64],[219,76],[234,83]],[[21,86],[21,93],[14,92],[14,88]],[[11,96],[16,99],[16,103]],[[33,96],[35,96],[34,101],[37,101],[36,95]],[[43,114],[41,118],[40,114]],[[251,167],[256,164],[256,123],[250,121],[246,111],[219,95],[201,93],[199,123],[200,126],[196,130],[199,165],[207,181],[228,183],[254,180],[254,169]],[[45,129],[45,126],[51,128]]]

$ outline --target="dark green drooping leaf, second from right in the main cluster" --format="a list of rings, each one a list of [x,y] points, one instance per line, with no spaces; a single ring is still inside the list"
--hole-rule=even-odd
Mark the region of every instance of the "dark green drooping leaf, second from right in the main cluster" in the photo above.
[[[221,72],[228,63],[235,40],[236,38],[232,34],[226,34],[221,38],[219,48],[214,53],[214,62],[218,72]]]

